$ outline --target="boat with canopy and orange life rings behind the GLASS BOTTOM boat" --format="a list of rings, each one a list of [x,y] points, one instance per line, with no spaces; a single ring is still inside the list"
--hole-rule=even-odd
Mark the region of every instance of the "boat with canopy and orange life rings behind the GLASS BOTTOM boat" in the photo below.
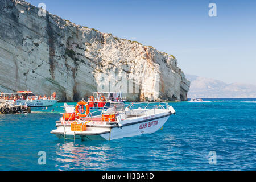
[[[93,92],[88,98],[90,109],[102,109],[110,107],[112,103],[125,102],[126,98],[122,97],[123,92]]]

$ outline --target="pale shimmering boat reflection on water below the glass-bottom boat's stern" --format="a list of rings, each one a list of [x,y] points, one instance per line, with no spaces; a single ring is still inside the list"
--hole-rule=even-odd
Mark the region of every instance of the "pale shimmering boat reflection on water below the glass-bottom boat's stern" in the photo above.
[[[53,160],[58,162],[58,165],[55,167],[59,170],[102,170],[113,166],[122,167],[121,164],[110,161],[115,155],[111,151],[118,150],[118,146],[113,147],[102,141],[91,141],[90,144],[92,145],[85,146],[74,142],[57,144],[55,152],[57,156]]]

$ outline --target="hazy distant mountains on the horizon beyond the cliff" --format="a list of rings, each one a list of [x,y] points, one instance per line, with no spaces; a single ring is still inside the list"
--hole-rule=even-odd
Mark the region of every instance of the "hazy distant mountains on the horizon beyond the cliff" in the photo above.
[[[196,75],[185,77],[191,81],[188,98],[256,98],[256,85],[226,84]]]

